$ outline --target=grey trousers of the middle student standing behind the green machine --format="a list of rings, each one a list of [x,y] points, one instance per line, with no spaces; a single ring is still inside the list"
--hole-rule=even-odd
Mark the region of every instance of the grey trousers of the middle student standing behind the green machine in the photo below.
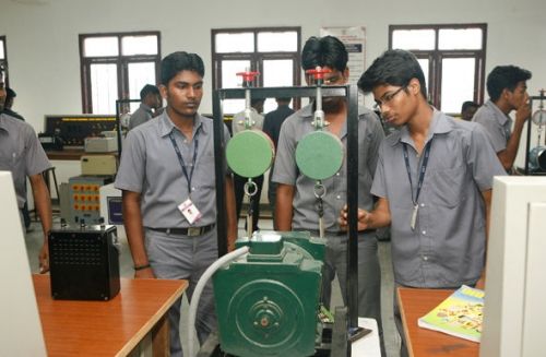
[[[343,300],[347,304],[347,236],[327,234],[327,255],[322,276],[322,302],[330,308],[332,281],[337,274]],[[381,323],[381,270],[373,233],[358,236],[358,316],[376,319],[384,356]]]

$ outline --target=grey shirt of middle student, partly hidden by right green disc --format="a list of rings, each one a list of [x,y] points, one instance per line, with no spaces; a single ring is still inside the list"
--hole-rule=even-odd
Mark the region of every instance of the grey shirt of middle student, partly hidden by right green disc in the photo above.
[[[373,199],[370,194],[371,182],[377,165],[379,144],[384,134],[375,112],[364,107],[358,108],[358,206],[371,210]],[[313,107],[308,105],[286,118],[281,128],[275,170],[272,181],[295,186],[293,200],[293,229],[318,230],[319,215],[316,210],[317,199],[313,193],[314,180],[301,175],[296,166],[295,151],[298,141],[314,131],[311,124]],[[347,126],[343,126],[341,141],[346,147]],[[331,178],[323,180],[327,188],[324,197],[324,229],[330,234],[340,233],[337,217],[347,202],[346,157],[341,169]]]

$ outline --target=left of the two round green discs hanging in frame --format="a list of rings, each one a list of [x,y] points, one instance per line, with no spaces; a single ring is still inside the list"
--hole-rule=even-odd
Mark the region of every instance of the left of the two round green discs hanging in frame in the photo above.
[[[260,130],[237,133],[226,147],[227,165],[242,177],[264,174],[273,163],[275,148],[270,136]]]

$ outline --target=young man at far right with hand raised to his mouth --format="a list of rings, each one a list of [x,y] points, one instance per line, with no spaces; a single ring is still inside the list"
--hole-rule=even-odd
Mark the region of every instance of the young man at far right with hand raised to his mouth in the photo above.
[[[472,121],[484,126],[492,148],[507,171],[510,171],[525,121],[531,117],[526,81],[531,72],[515,66],[498,66],[487,75],[487,100]],[[515,121],[510,112],[515,110]],[[513,130],[512,130],[513,123]]]

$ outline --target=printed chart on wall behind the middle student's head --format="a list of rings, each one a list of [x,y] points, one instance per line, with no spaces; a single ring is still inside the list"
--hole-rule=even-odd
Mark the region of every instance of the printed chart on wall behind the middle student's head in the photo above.
[[[357,84],[360,75],[364,73],[365,59],[366,59],[366,29],[363,26],[353,27],[322,27],[320,36],[334,36],[337,37],[348,52],[348,71],[349,84]],[[364,97],[358,96],[358,104],[364,105]]]

